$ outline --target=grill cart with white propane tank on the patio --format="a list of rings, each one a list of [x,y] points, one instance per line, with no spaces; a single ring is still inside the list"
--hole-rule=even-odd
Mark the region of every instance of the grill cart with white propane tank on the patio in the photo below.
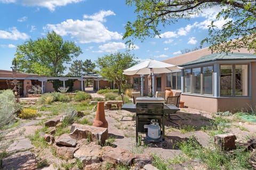
[[[168,143],[164,141],[164,99],[139,97],[136,101],[137,145],[139,133],[146,133],[144,140],[148,142],[161,142],[161,146],[167,148]]]

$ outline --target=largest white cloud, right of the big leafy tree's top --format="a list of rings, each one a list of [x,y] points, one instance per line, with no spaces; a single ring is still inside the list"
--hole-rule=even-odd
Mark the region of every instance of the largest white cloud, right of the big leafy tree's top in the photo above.
[[[79,43],[105,43],[109,40],[122,39],[118,32],[112,32],[100,22],[105,21],[104,17],[111,14],[111,11],[100,11],[87,18],[95,20],[66,20],[58,24],[47,24],[44,29],[53,30],[60,36],[71,35],[77,38]],[[98,21],[100,20],[100,21]]]

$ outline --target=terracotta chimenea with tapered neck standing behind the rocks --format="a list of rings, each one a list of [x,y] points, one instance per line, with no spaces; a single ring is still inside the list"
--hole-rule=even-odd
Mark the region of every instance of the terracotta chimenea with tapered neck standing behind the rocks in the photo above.
[[[92,125],[101,128],[108,128],[108,122],[105,117],[104,101],[98,101],[96,115]]]

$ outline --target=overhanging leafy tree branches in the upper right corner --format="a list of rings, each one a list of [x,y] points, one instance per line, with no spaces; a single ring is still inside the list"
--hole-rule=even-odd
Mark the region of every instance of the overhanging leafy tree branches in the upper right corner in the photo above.
[[[230,52],[232,49],[256,49],[256,2],[251,0],[126,0],[127,5],[135,4],[137,19],[127,22],[123,38],[160,36],[158,25],[172,24],[179,19],[190,19],[207,8],[218,6],[216,19],[226,23],[221,29],[214,22],[209,25],[209,37],[202,40],[215,51]],[[132,43],[133,39],[127,41]],[[233,41],[231,41],[233,40]]]

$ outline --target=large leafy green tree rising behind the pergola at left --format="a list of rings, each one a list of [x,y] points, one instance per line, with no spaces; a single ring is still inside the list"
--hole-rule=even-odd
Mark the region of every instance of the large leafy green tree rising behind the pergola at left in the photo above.
[[[46,76],[63,74],[69,62],[82,53],[75,43],[63,41],[54,31],[46,38],[26,41],[15,54],[20,71]]]

